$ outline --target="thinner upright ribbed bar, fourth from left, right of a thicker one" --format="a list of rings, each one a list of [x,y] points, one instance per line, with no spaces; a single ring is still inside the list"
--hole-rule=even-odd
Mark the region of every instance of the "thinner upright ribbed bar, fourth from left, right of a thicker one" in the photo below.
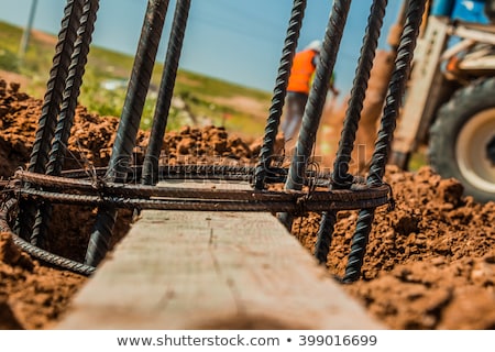
[[[190,0],[178,0],[174,13],[170,37],[168,40],[165,68],[160,86],[158,99],[153,117],[153,125],[144,157],[142,184],[155,185],[158,182],[158,160],[162,151],[163,138],[167,127],[172,97],[174,94],[177,68],[183,50],[184,34],[189,15]]]

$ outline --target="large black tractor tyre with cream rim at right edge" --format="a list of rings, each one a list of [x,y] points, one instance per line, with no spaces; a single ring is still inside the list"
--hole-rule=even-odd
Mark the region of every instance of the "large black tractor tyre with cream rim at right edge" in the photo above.
[[[464,185],[464,195],[495,200],[495,78],[461,88],[440,108],[429,157],[442,177]]]

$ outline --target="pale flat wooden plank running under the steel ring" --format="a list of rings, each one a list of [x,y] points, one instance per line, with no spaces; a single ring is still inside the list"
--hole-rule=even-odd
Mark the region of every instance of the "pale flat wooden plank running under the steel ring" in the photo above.
[[[57,327],[381,328],[272,215],[155,210],[143,211]]]

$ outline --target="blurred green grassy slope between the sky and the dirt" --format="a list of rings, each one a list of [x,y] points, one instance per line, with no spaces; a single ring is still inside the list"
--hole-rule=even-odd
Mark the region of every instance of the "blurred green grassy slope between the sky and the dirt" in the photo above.
[[[32,35],[28,53],[21,59],[16,54],[21,36],[21,29],[0,22],[0,69],[26,77],[29,85],[22,89],[33,97],[41,98],[52,67],[56,37],[45,34]],[[132,64],[132,56],[91,46],[79,102],[100,116],[120,117]],[[142,129],[151,128],[162,70],[163,64],[155,65],[152,78],[155,94],[148,94],[146,99]],[[102,88],[108,81],[122,84],[114,89]],[[208,121],[216,125],[224,125],[228,130],[244,136],[261,135],[271,100],[268,92],[185,70],[178,72],[174,96],[184,100],[187,111],[196,118],[194,122],[201,124]],[[237,97],[246,98],[258,108],[254,111],[249,107],[239,106],[233,101]],[[177,130],[183,122],[180,109],[172,107],[168,130]]]

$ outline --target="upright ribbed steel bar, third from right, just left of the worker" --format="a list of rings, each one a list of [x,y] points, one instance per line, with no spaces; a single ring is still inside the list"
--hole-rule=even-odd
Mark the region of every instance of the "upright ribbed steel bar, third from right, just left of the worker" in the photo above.
[[[351,0],[336,0],[333,2],[332,12],[324,33],[321,57],[317,65],[315,81],[309,92],[308,102],[306,103],[299,138],[294,157],[290,162],[287,182],[285,183],[286,189],[302,188],[302,177],[306,175],[306,167],[315,146],[318,125],[330,87],[330,78],[333,74],[350,6]],[[278,216],[278,219],[290,231],[294,216],[282,213]]]

